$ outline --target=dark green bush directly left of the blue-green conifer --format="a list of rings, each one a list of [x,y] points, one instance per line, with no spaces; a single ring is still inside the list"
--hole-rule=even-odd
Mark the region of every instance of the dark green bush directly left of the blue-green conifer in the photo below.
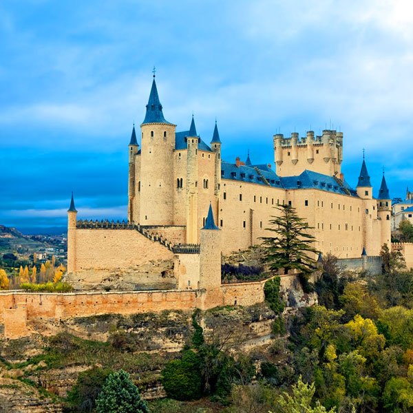
[[[76,384],[67,394],[67,401],[76,412],[92,412],[103,383],[112,373],[110,369],[94,367],[78,375]]]

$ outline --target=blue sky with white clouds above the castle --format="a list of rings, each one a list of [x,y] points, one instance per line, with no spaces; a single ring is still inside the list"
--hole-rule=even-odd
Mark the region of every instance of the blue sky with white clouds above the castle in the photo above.
[[[195,114],[225,160],[273,162],[278,130],[344,133],[353,187],[362,149],[377,194],[413,187],[413,8],[388,1],[0,3],[0,224],[26,232],[126,218],[127,144],[151,69],[165,118]]]

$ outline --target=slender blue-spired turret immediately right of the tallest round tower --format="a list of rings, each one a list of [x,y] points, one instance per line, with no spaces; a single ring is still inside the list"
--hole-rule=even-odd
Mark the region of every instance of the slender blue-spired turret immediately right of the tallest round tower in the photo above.
[[[187,136],[187,244],[198,243],[198,142],[195,120]]]

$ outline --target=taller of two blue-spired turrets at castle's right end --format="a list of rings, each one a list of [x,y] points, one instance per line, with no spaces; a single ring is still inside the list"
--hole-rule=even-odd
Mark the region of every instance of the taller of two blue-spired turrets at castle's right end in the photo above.
[[[374,240],[373,240],[373,202],[372,202],[372,184],[370,182],[370,176],[368,175],[366,160],[361,164],[361,171],[359,175],[359,182],[357,182],[357,195],[361,198],[362,209],[361,216],[362,218],[362,230],[363,230],[363,248],[366,248],[367,251],[374,251]]]

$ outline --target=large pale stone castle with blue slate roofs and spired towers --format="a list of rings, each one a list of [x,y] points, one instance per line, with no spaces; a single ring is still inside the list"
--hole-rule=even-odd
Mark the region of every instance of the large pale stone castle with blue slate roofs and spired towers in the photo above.
[[[139,273],[141,264],[174,260],[178,254],[182,263],[189,251],[202,250],[202,228],[212,226],[220,230],[222,242],[204,245],[211,254],[220,248],[224,254],[242,250],[260,244],[278,212],[274,207],[284,204],[313,227],[321,253],[351,259],[362,251],[379,255],[383,244],[390,245],[392,205],[385,177],[374,198],[363,157],[357,187],[350,187],[341,173],[343,133],[327,129],[315,136],[308,131],[304,138],[276,134],[273,144],[275,170],[270,164],[254,164],[249,154],[245,162],[222,160],[224,143],[216,121],[209,144],[198,135],[193,117],[189,130],[176,131],[165,119],[153,77],[140,143],[134,126],[128,147],[127,222],[78,221],[72,198],[68,273]],[[198,268],[197,274],[202,273],[199,266],[199,260],[187,264]],[[181,287],[200,281],[176,262],[173,272]],[[182,273],[188,275],[184,281]]]

